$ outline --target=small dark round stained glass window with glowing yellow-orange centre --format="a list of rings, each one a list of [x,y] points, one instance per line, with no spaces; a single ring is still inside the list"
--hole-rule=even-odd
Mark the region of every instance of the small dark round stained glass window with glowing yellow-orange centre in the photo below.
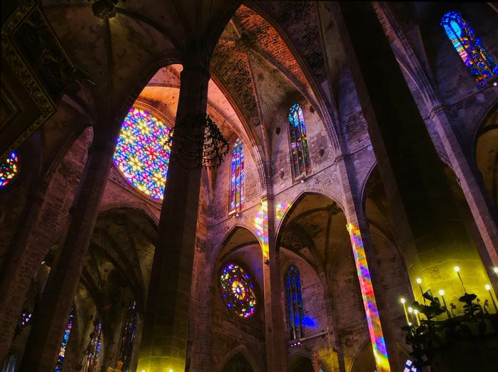
[[[220,275],[221,295],[228,309],[249,318],[256,310],[256,295],[250,275],[239,265],[229,263]]]

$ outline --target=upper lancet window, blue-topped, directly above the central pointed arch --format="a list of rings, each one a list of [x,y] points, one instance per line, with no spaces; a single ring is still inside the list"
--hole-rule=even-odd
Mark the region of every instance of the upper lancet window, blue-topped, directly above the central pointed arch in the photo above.
[[[306,139],[306,124],[299,103],[295,103],[289,110],[290,124],[290,152],[292,155],[292,166],[296,179],[311,173],[311,161],[309,160],[308,142]]]

